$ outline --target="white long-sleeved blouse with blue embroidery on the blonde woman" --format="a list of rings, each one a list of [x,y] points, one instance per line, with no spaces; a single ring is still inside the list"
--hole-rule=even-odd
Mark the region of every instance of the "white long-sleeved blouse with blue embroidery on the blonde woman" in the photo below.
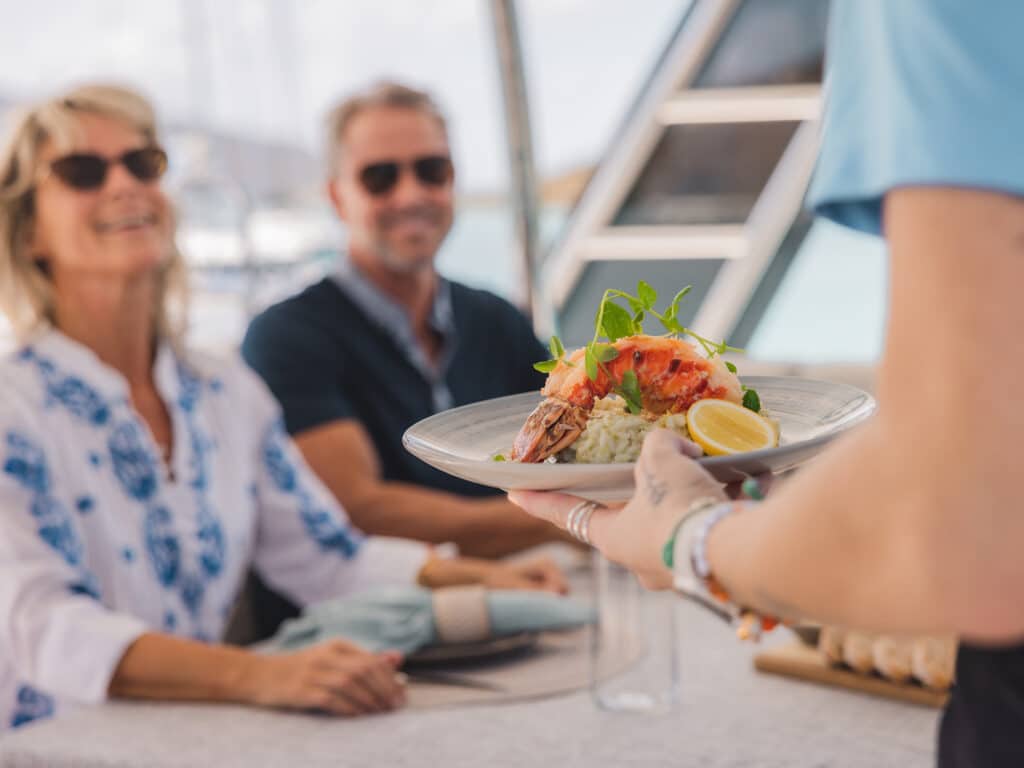
[[[165,343],[154,376],[170,472],[88,348],[48,330],[0,361],[0,730],[103,700],[142,633],[219,639],[250,565],[308,604],[426,558],[349,524],[241,360]]]

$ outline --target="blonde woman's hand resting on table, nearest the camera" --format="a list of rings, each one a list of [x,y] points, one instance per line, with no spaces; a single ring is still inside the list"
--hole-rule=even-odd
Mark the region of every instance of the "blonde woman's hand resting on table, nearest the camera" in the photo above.
[[[400,664],[398,653],[370,653],[344,640],[260,655],[245,682],[247,698],[263,707],[346,717],[389,712],[406,702],[404,686],[395,675]]]

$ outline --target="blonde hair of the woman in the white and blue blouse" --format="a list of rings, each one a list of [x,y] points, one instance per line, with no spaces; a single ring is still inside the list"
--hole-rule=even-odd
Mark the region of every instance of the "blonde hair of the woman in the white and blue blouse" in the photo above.
[[[113,85],[85,85],[23,111],[0,147],[0,310],[18,338],[52,322],[53,283],[44,263],[32,253],[35,185],[42,148],[74,147],[81,127],[78,116],[98,115],[130,126],[157,143],[153,106],[135,91]],[[158,276],[155,331],[180,341],[187,310],[184,258],[171,238],[170,253]]]

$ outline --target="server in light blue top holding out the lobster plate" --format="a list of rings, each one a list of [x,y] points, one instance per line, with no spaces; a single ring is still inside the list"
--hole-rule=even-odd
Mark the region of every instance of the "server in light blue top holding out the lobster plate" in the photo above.
[[[890,248],[868,425],[761,504],[668,432],[625,509],[513,496],[720,612],[961,636],[940,768],[1024,765],[1022,29],[1017,0],[831,5],[810,197]]]

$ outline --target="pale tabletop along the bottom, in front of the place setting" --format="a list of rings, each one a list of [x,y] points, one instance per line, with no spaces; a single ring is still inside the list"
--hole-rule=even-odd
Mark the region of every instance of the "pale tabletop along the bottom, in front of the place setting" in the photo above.
[[[918,768],[938,713],[754,671],[742,645],[687,606],[682,702],[601,712],[588,693],[351,721],[233,707],[111,703],[0,736],[4,768],[153,766],[693,766]],[[774,640],[788,641],[781,631]]]

